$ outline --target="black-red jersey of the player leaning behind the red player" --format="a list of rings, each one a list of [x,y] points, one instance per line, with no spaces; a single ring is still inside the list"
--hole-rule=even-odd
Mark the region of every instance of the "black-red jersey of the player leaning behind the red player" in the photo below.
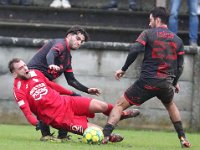
[[[66,39],[54,39],[38,51],[28,63],[28,67],[42,71],[49,80],[53,80],[62,73],[73,72],[71,58],[70,47]],[[50,70],[48,66],[52,64],[59,66],[60,71]]]

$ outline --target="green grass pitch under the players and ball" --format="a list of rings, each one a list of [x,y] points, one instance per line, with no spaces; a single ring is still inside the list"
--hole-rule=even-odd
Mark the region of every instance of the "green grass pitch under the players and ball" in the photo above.
[[[51,129],[52,130],[52,129]],[[57,135],[56,130],[55,134]],[[0,125],[0,150],[180,150],[175,132],[115,130],[125,137],[121,143],[87,145],[81,143],[81,136],[72,135],[64,143],[41,142],[41,134],[33,126]],[[200,133],[187,133],[191,150],[200,149]]]

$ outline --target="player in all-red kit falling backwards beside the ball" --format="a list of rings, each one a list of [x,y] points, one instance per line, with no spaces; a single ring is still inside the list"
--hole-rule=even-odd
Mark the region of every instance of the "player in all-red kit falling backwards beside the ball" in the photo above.
[[[94,113],[109,115],[113,106],[105,102],[73,95],[73,92],[49,81],[39,70],[29,70],[20,59],[14,58],[8,64],[14,80],[14,96],[30,124],[40,129],[40,120],[57,129],[82,135]],[[60,95],[63,94],[63,95]],[[33,115],[33,114],[34,115]],[[121,119],[135,117],[123,112]],[[36,118],[36,117],[37,118]],[[123,137],[111,135],[111,142],[120,142]]]

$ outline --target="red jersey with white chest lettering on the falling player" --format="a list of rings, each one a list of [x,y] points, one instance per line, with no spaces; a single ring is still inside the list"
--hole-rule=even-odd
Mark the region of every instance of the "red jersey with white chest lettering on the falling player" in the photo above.
[[[60,94],[71,95],[73,92],[49,81],[38,70],[31,70],[30,74],[28,80],[15,79],[16,102],[32,125],[36,125],[38,120],[50,124],[64,110],[65,102]]]

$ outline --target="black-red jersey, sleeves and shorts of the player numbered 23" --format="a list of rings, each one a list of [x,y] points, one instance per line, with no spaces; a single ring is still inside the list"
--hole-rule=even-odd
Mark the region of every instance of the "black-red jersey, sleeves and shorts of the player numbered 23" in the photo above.
[[[152,97],[168,104],[183,69],[183,42],[165,26],[144,30],[131,47],[122,67],[126,71],[144,50],[140,78],[124,93],[130,104],[141,105]]]

